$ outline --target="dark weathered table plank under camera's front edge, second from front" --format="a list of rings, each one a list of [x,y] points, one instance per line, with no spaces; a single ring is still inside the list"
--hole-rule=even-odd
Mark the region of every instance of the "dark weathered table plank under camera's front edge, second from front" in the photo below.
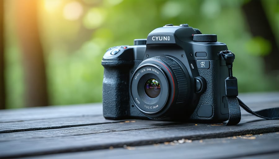
[[[259,120],[236,126],[160,121],[153,124],[150,122],[156,121],[142,121],[142,124],[146,125],[140,126],[138,122],[139,120],[98,125],[100,127],[83,126],[75,131],[63,128],[52,129],[51,132],[43,130],[1,134],[1,138],[7,140],[0,142],[0,158],[78,152],[104,149],[110,146],[147,145],[182,138],[194,140],[279,131],[278,120]],[[155,128],[150,128],[152,126]],[[17,136],[30,136],[30,138]]]

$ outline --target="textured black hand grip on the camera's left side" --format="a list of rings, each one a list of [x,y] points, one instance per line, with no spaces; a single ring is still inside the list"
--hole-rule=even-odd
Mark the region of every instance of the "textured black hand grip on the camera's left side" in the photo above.
[[[104,65],[103,114],[122,119],[129,114],[129,67]]]

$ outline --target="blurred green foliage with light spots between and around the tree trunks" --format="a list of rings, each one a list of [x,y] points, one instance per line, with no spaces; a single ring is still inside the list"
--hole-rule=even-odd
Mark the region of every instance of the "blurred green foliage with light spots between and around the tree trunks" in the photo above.
[[[133,45],[165,24],[187,23],[202,33],[217,34],[236,54],[234,75],[240,92],[279,90],[279,74],[266,75],[260,55],[269,41],[252,37],[241,11],[247,0],[44,0],[38,6],[48,92],[52,105],[102,101],[105,50]],[[8,108],[22,107],[24,80],[15,23],[16,0],[6,0],[6,81]],[[263,1],[279,38],[279,1]],[[260,27],[260,26],[259,26]],[[278,59],[279,60],[279,59]],[[109,90],[108,90],[109,91]]]

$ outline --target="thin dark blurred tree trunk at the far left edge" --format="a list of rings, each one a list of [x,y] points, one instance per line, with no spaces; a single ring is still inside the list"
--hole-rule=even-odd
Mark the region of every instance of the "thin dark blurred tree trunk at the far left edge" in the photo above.
[[[0,0],[0,109],[5,109],[5,79],[4,79],[4,4]]]

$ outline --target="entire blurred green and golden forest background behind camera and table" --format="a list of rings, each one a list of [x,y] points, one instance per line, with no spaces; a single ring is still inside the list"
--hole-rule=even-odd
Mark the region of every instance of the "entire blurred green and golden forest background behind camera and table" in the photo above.
[[[217,34],[239,92],[279,90],[278,0],[1,1],[2,109],[101,102],[105,50],[165,24]]]

